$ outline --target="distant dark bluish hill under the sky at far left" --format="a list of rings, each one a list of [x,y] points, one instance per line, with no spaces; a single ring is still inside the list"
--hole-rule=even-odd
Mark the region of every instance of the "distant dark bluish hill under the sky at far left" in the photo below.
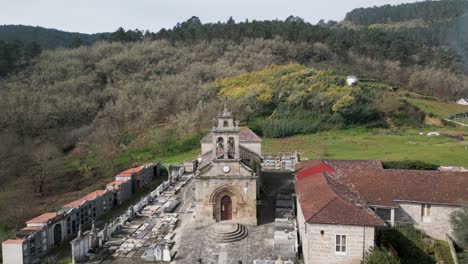
[[[100,34],[65,32],[57,29],[24,25],[0,25],[0,40],[11,42],[36,42],[43,49],[74,47],[79,44],[89,45],[99,38]]]

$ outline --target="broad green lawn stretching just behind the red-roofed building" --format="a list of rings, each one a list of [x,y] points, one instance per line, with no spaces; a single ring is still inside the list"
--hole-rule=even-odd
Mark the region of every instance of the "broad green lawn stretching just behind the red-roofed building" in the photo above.
[[[415,129],[391,133],[390,130],[357,128],[263,139],[263,153],[295,150],[308,159],[421,160],[438,165],[468,166],[466,139],[421,136]]]

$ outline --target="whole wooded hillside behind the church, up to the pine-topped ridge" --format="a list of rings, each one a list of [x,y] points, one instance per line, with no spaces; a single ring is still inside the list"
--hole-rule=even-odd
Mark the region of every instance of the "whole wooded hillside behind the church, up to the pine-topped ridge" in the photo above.
[[[468,97],[468,79],[465,53],[446,35],[411,30],[192,17],[68,48],[0,42],[0,227],[142,160],[197,148],[225,100],[243,124],[275,138],[388,120],[418,126],[424,113],[374,92],[375,83],[454,100]],[[350,74],[366,81],[347,87]]]

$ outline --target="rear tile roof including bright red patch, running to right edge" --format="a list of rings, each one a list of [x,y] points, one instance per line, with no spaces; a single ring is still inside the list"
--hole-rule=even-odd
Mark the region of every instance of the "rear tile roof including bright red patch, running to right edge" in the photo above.
[[[296,166],[297,185],[311,175],[325,172],[348,190],[359,194],[367,205],[396,207],[395,201],[453,205],[468,202],[468,172],[383,169],[380,161],[301,162]],[[319,192],[324,192],[323,187],[319,189]]]

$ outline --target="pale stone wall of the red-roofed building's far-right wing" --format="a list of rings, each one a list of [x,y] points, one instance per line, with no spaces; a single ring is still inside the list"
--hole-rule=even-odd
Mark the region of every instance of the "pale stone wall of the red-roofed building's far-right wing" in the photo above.
[[[395,211],[395,221],[414,223],[415,227],[436,239],[445,239],[445,234],[452,235],[450,213],[459,209],[459,206],[431,204],[429,222],[423,222],[421,217],[421,204],[398,203]]]

